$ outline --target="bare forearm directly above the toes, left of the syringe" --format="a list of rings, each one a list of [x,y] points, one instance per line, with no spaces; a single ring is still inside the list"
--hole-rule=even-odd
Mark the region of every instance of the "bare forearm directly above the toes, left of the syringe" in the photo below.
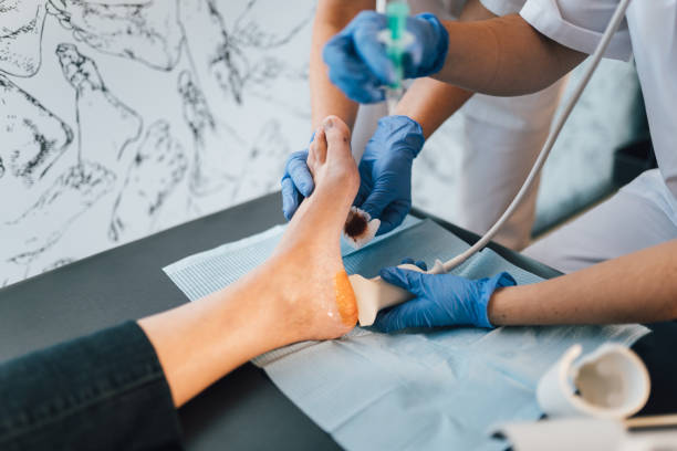
[[[310,90],[312,124],[315,129],[322,120],[335,115],[348,127],[353,127],[357,115],[357,103],[347,98],[329,80],[326,65],[322,61],[322,49],[326,41],[338,33],[362,10],[374,9],[374,0],[321,0],[317,4],[310,57]]]

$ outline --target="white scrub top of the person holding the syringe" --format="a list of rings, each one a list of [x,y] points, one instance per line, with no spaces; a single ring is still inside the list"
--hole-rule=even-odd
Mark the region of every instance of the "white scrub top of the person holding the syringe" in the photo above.
[[[528,0],[520,14],[544,35],[593,53],[618,0]],[[670,203],[677,201],[677,0],[633,0],[607,57],[635,57],[652,140]],[[660,183],[660,180],[657,180]],[[656,199],[658,200],[658,199]],[[673,218],[677,223],[677,218]]]

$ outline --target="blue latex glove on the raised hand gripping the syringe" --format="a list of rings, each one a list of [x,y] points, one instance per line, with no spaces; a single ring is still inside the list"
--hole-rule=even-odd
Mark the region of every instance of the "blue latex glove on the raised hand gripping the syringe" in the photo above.
[[[406,27],[414,41],[403,55],[404,77],[415,78],[439,72],[449,48],[449,34],[445,27],[430,13],[407,18]],[[322,56],[329,65],[330,80],[355,102],[383,102],[383,85],[396,81],[386,45],[378,39],[378,33],[386,28],[384,14],[362,11],[324,46]]]

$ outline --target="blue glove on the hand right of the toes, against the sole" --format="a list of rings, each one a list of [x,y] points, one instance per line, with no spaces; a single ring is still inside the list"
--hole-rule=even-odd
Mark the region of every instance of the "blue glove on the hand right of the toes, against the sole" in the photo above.
[[[377,234],[387,233],[412,208],[412,164],[425,138],[407,116],[386,116],[366,145],[360,161],[360,190],[354,204],[381,219]]]

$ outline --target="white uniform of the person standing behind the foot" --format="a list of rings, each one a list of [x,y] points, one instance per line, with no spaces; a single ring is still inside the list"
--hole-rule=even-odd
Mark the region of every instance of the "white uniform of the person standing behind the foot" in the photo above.
[[[481,0],[497,15],[517,13],[525,0]],[[414,13],[433,12],[454,19],[466,0],[413,0]],[[492,97],[476,94],[464,105],[464,150],[456,196],[458,216],[451,220],[476,233],[485,233],[506,210],[527,178],[541,150],[554,115],[564,80],[531,95]],[[384,104],[362,105],[353,130],[353,149],[358,158],[387,114]],[[506,223],[496,240],[512,249],[530,241],[535,217],[538,182]],[[433,211],[434,212],[434,211]]]

